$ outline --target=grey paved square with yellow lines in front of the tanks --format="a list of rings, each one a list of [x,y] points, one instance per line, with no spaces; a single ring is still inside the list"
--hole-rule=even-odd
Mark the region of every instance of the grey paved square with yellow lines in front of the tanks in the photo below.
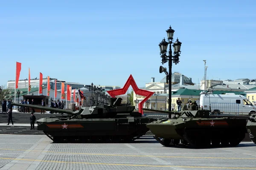
[[[163,147],[151,136],[123,144],[53,144],[47,136],[0,135],[0,170],[256,170],[256,145]]]

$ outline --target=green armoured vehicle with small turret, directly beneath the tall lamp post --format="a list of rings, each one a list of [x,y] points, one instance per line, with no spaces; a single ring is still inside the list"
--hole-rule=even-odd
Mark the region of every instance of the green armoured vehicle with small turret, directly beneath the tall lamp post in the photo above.
[[[237,146],[247,133],[246,119],[210,118],[210,111],[198,110],[191,105],[188,108],[185,105],[180,112],[162,112],[168,113],[169,118],[151,122],[146,126],[153,133],[153,137],[164,146]]]

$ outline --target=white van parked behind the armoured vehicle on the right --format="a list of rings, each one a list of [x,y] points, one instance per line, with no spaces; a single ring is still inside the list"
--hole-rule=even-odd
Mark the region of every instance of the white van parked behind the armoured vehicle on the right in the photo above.
[[[211,110],[212,113],[250,114],[256,112],[256,107],[243,95],[201,94],[200,107]]]

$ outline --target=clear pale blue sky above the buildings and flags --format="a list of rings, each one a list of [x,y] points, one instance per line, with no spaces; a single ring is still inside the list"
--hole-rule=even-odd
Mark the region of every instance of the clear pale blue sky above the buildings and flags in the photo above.
[[[76,3],[74,3],[76,2]],[[159,42],[169,25],[182,42],[178,71],[198,83],[256,78],[254,0],[44,0],[3,1],[0,6],[0,85],[43,77],[123,86],[160,81]],[[168,68],[168,64],[164,64]]]

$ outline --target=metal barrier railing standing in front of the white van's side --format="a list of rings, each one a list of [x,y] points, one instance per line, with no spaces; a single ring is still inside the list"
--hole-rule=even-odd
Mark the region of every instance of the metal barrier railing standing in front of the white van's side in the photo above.
[[[229,114],[239,114],[243,113],[241,109],[241,104],[238,103],[211,103],[211,111],[213,114],[229,113]],[[246,113],[248,114],[248,113]]]

